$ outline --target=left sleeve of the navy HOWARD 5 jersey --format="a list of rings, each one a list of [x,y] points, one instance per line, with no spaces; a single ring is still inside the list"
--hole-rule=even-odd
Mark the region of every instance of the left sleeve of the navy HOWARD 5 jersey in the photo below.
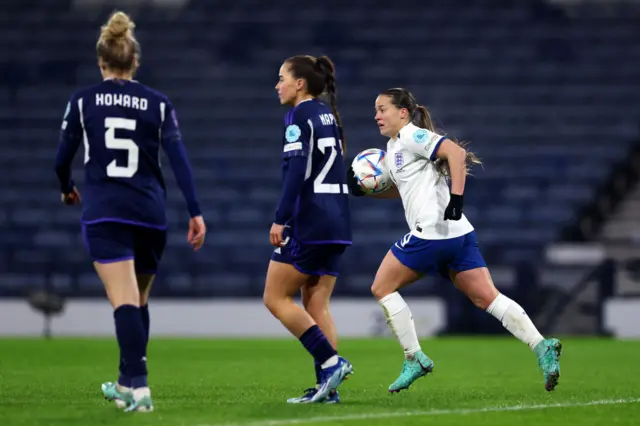
[[[56,153],[56,175],[60,181],[60,192],[63,196],[74,193],[74,182],[71,178],[71,164],[82,141],[82,123],[78,100],[72,96],[62,119],[60,141]]]

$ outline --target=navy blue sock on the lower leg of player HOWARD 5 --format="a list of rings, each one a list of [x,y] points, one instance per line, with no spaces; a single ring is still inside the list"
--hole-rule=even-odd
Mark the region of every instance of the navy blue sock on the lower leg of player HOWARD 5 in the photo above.
[[[132,388],[147,386],[146,337],[140,308],[122,305],[113,313],[121,359]]]

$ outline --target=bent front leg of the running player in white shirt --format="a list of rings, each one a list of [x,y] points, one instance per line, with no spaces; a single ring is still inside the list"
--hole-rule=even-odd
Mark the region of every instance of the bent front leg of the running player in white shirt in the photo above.
[[[407,238],[407,237],[405,237]],[[398,290],[421,277],[407,266],[420,254],[411,248],[411,238],[399,241],[382,260],[371,287],[371,292],[382,306],[391,331],[404,350],[405,360],[400,376],[389,386],[389,392],[408,389],[413,382],[433,371],[433,361],[422,351],[413,323],[413,315]],[[418,259],[419,260],[419,259]]]

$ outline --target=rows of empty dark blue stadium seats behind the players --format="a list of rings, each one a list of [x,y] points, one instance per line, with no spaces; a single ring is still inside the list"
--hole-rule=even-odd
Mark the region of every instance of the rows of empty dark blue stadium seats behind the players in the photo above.
[[[102,294],[79,210],[59,203],[53,159],[69,95],[99,80],[94,46],[113,9],[103,3],[3,2],[0,294],[46,285],[71,296]],[[206,247],[192,253],[182,196],[166,170],[171,233],[159,296],[261,294],[285,113],[274,85],[288,56],[335,60],[350,156],[384,147],[373,101],[395,86],[413,91],[446,134],[470,141],[485,165],[468,181],[466,214],[490,265],[520,274],[575,223],[639,133],[634,5],[582,5],[570,14],[535,0],[405,0],[401,7],[332,0],[304,8],[293,0],[193,0],[124,9],[142,43],[139,80],[177,108],[210,227]],[[352,207],[354,246],[337,293],[367,295],[407,226],[398,202],[353,200]],[[408,290],[447,291],[429,279]]]

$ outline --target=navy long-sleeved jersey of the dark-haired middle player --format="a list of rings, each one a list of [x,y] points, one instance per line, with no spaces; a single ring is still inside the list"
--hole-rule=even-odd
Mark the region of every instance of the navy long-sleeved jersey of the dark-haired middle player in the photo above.
[[[298,160],[298,163],[294,162]],[[340,130],[331,108],[312,99],[301,102],[285,118],[283,182],[300,167],[302,181],[287,218],[295,240],[305,244],[351,244],[351,214]],[[286,210],[286,209],[284,209]],[[280,220],[282,221],[282,219]]]

